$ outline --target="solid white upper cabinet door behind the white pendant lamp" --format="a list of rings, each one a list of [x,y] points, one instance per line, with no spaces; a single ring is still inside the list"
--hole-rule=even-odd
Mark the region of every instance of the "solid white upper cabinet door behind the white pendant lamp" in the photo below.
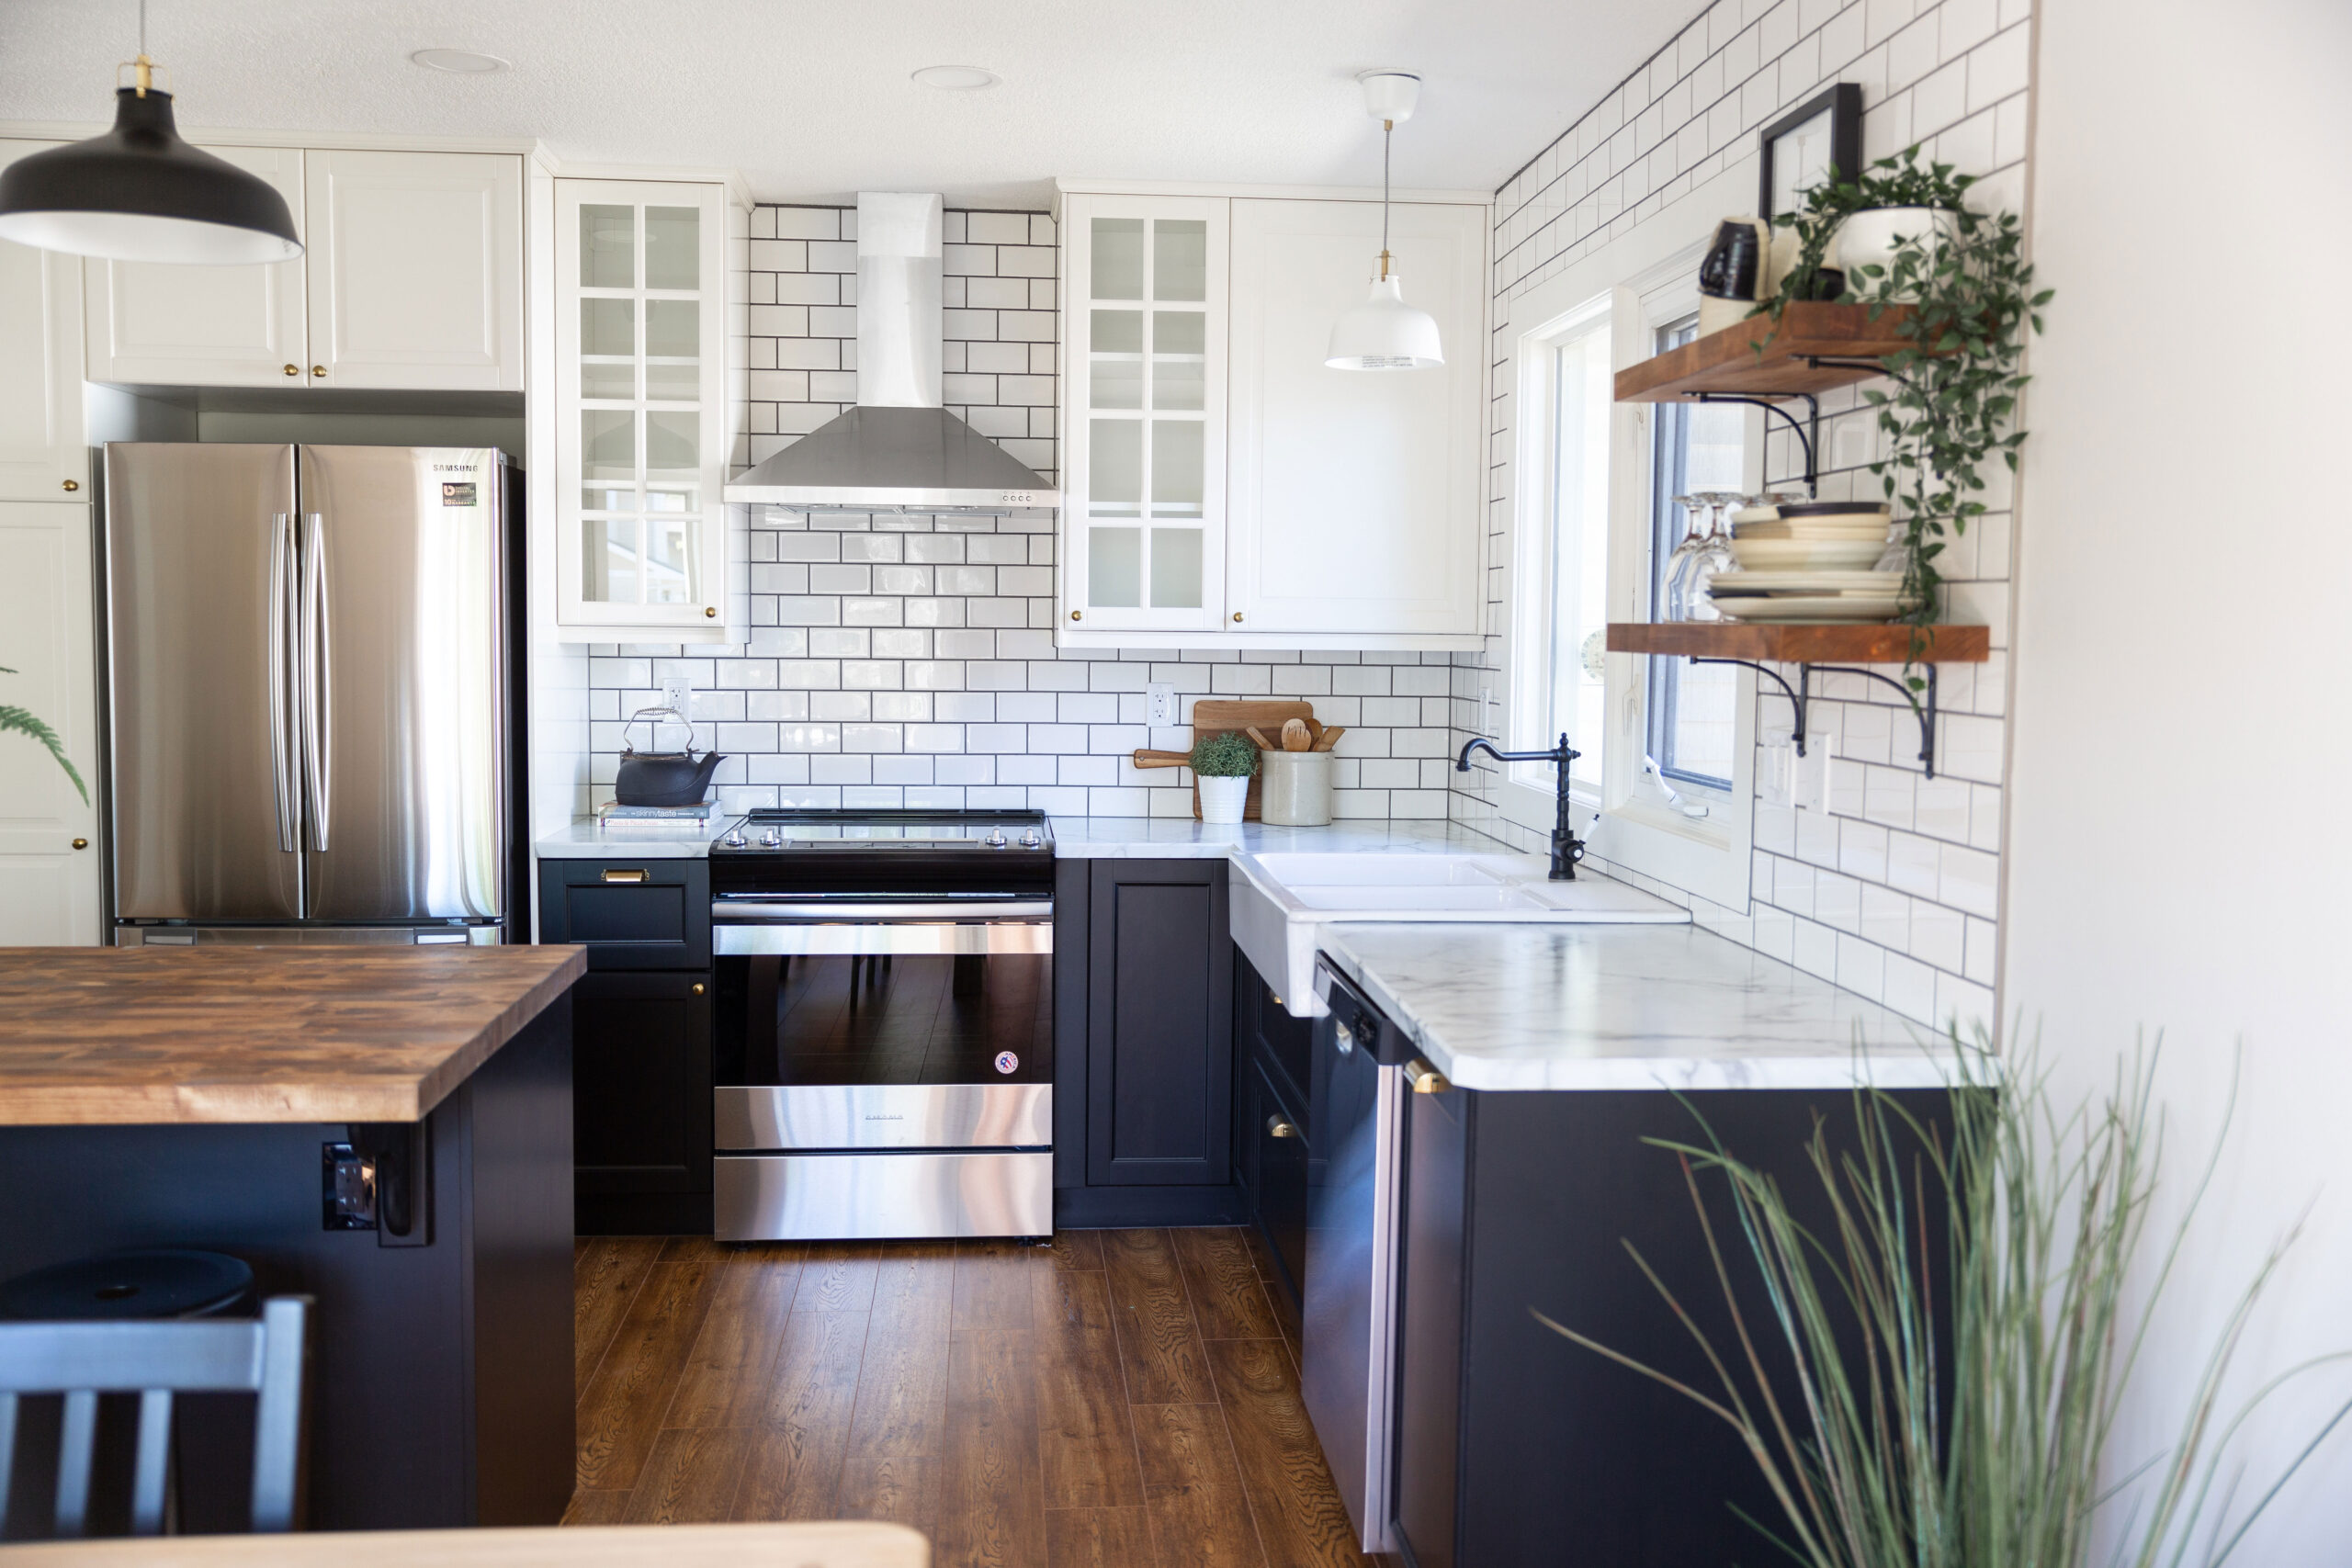
[[[1404,303],[1446,362],[1324,367],[1364,303],[1378,202],[1232,202],[1228,602],[1254,632],[1479,630],[1486,209],[1399,202]]]

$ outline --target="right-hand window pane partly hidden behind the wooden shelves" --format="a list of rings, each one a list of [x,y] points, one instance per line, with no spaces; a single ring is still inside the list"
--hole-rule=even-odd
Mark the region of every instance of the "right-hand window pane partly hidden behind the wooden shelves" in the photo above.
[[[1698,336],[1698,317],[1656,334],[1656,353]],[[1665,571],[1691,529],[1691,512],[1675,496],[1736,491],[1745,475],[1745,411],[1738,404],[1658,404],[1651,421],[1649,484],[1649,618],[1665,621]],[[1693,665],[1686,658],[1649,663],[1649,759],[1679,788],[1729,792],[1738,715],[1738,670]]]

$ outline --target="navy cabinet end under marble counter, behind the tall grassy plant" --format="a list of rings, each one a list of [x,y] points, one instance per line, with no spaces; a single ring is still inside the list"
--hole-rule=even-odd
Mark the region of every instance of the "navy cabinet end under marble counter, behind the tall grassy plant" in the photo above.
[[[1947,1126],[1940,1091],[1896,1095]],[[1825,1225],[1804,1157],[1816,1112],[1851,1145],[1842,1091],[1409,1095],[1399,1211],[1395,1526],[1411,1568],[1729,1568],[1778,1549],[1783,1514],[1740,1439],[1715,1415],[1573,1345],[1529,1307],[1696,1389],[1719,1389],[1703,1352],[1625,1255],[1658,1269],[1717,1347],[1733,1328],[1682,1164],[1644,1138],[1705,1143],[1773,1173]],[[1905,1152],[1905,1159],[1910,1152]],[[1933,1178],[1929,1178],[1933,1180]],[[1783,1394],[1785,1352],[1724,1180],[1698,1175],[1740,1312]],[[1943,1258],[1940,1215],[1926,1255]],[[1950,1366],[1950,1354],[1945,1354]],[[1790,1408],[1790,1406],[1785,1406]]]

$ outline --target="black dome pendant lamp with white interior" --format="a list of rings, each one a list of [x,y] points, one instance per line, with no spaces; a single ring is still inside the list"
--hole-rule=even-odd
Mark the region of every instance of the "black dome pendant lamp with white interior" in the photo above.
[[[153,85],[146,0],[132,71],[136,85],[115,89],[115,129],[0,169],[0,240],[108,261],[301,256],[294,214],[268,181],[179,139],[172,94]]]

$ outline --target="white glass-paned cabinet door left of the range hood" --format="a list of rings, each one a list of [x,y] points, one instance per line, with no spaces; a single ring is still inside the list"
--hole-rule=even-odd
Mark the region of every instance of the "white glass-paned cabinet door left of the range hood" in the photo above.
[[[724,188],[555,188],[560,621],[708,639],[727,614]]]

